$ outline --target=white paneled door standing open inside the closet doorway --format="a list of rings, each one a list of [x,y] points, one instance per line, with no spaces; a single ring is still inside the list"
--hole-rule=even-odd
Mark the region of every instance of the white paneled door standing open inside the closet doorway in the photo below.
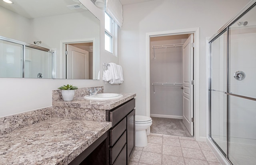
[[[194,37],[193,34],[189,36],[183,45],[183,123],[191,135],[194,135],[194,124],[192,117],[194,117],[193,108],[193,56],[194,48],[192,47]]]

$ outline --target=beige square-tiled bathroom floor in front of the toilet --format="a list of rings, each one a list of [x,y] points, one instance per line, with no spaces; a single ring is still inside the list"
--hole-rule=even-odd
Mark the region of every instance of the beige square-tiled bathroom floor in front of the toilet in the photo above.
[[[148,146],[135,147],[129,165],[221,165],[206,142],[150,134]]]

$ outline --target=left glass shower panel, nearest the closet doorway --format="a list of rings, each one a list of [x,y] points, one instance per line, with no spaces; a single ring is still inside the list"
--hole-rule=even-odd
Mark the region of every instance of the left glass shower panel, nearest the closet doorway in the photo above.
[[[210,137],[227,154],[227,32],[211,43]]]

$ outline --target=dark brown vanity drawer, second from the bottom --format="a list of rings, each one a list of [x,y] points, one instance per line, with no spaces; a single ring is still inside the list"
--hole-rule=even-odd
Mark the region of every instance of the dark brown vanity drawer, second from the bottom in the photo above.
[[[116,160],[116,157],[119,155],[120,151],[126,144],[126,131],[120,137],[120,139],[117,141],[117,143],[114,145],[114,147],[110,148],[110,164],[113,164]],[[125,152],[126,154],[126,152]]]

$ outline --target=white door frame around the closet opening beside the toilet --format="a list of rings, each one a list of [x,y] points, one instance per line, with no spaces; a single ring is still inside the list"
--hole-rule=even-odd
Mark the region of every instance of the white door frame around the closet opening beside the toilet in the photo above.
[[[200,28],[167,30],[146,33],[146,116],[150,117],[150,37],[172,36],[180,34],[194,34],[194,137],[196,141],[205,141],[200,138]],[[147,129],[150,133],[150,128]]]

